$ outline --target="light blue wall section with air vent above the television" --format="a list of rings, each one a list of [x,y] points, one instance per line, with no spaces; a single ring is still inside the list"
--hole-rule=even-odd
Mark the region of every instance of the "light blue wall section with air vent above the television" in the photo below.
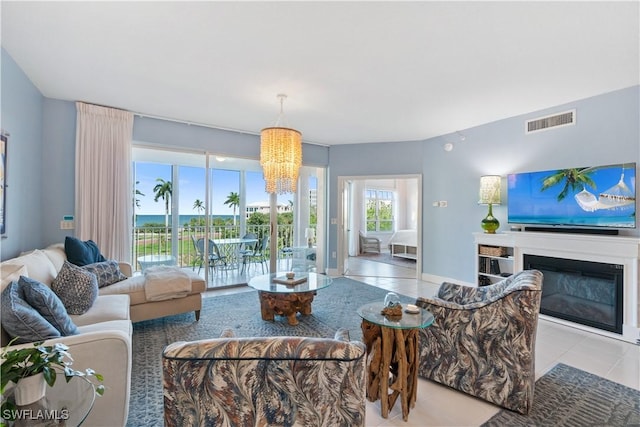
[[[640,167],[640,86],[463,130],[453,151],[442,145],[455,136],[425,142],[423,152],[423,271],[475,282],[473,232],[487,207],[478,205],[481,175],[636,162]],[[530,135],[526,120],[576,109],[576,124]],[[502,200],[506,201],[503,180]],[[434,208],[447,200],[448,208]],[[640,208],[636,201],[637,209]],[[503,203],[494,207],[500,230],[508,230]],[[640,225],[640,224],[639,224]],[[640,230],[624,235],[640,236]]]

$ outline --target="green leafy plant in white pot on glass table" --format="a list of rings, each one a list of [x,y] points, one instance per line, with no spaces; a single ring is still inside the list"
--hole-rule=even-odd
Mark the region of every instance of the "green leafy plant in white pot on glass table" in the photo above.
[[[43,342],[36,342],[33,347],[24,347],[9,350],[9,346],[13,344],[15,338],[2,349],[2,366],[0,368],[0,394],[4,396],[7,385],[15,383],[16,390],[14,396],[16,402],[5,400],[2,402],[2,413],[5,410],[16,409],[15,405],[26,405],[33,403],[44,397],[46,385],[52,387],[58,374],[64,374],[67,382],[73,377],[83,377],[87,381],[95,378],[98,382],[93,383],[96,394],[102,396],[104,394],[104,385],[102,375],[96,373],[93,369],[84,371],[76,371],[71,367],[73,358],[69,353],[69,347],[62,343],[53,345],[43,345]],[[25,384],[26,383],[26,384]],[[32,383],[31,385],[28,385]],[[36,391],[31,393],[29,389],[33,387]]]

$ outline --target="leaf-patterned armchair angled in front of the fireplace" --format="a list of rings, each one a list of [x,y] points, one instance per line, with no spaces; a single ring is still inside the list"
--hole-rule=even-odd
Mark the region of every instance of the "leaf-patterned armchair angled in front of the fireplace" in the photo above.
[[[418,375],[527,414],[542,278],[526,270],[479,288],[445,282],[434,299],[418,298],[435,317],[420,330]]]

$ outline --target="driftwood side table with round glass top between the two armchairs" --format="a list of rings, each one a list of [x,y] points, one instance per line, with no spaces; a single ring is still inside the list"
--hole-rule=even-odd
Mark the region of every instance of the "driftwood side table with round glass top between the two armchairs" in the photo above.
[[[407,421],[418,390],[418,329],[430,326],[433,315],[420,308],[391,320],[381,313],[383,307],[373,302],[358,308],[367,346],[367,398],[380,399],[382,417],[387,418],[400,397],[402,419]]]

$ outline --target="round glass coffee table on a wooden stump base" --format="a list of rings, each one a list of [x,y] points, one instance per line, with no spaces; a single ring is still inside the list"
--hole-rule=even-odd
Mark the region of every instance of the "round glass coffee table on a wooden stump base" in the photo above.
[[[255,276],[249,286],[258,291],[262,320],[274,320],[274,315],[286,316],[290,325],[297,325],[296,313],[311,314],[311,302],[316,292],[331,285],[329,276],[317,273],[298,273],[295,279],[306,278],[295,286],[276,283],[273,279],[285,279],[285,273],[271,273]]]

